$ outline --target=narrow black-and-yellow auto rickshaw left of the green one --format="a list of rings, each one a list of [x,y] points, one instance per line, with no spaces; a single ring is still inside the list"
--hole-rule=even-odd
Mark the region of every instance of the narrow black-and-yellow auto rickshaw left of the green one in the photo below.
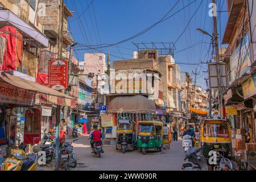
[[[119,119],[117,121],[117,150],[122,150],[123,154],[127,150],[133,150],[135,143],[133,122],[129,119]]]

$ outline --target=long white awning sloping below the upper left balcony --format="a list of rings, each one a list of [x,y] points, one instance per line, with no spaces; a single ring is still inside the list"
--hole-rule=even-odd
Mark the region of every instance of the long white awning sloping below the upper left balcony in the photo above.
[[[11,11],[0,10],[0,27],[5,26],[6,24],[11,24],[18,28],[24,38],[32,38],[41,44],[42,47],[48,47],[49,40],[41,32],[31,27]]]

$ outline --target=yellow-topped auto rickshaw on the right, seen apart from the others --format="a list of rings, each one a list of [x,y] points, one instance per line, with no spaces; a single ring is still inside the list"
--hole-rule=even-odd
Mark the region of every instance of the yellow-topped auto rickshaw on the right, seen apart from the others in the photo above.
[[[230,123],[225,119],[205,119],[200,128],[200,145],[204,147],[202,155],[206,159],[213,155],[213,152],[210,154],[210,151],[218,151],[225,158],[231,159],[232,137]],[[207,161],[209,162],[209,160]]]

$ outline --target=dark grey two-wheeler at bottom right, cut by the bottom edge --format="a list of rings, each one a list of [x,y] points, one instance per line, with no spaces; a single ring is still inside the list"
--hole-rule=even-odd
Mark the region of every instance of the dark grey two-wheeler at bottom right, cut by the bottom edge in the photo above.
[[[208,171],[207,160],[200,155],[201,148],[189,148],[182,164],[183,171]]]

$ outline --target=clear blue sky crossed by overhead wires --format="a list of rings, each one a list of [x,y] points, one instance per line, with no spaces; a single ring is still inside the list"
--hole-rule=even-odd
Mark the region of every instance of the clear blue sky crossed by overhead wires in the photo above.
[[[75,0],[65,1],[73,13],[69,18],[75,42],[86,45],[113,44],[123,39],[129,38],[155,22],[158,22],[175,5],[178,0]],[[139,42],[176,42],[181,32],[185,30],[189,19],[193,16],[187,30],[177,41],[174,53],[175,61],[178,63],[197,64],[211,58],[212,48],[210,48],[210,37],[196,31],[201,28],[213,32],[212,17],[208,15],[209,3],[212,0],[180,0],[168,15],[172,15],[177,10],[192,3],[176,15],[166,21],[157,24],[154,28],[141,36],[129,40],[125,43],[102,48],[103,52],[110,51],[110,60],[130,59],[136,47],[134,43]],[[217,10],[226,11],[226,1],[216,0]],[[201,5],[200,5],[201,3]],[[85,11],[85,9],[89,8]],[[85,13],[83,13],[85,11]],[[82,14],[83,13],[83,14]],[[219,36],[222,38],[227,22],[227,13],[218,13]],[[78,18],[79,17],[79,18]],[[96,17],[96,18],[95,18]],[[221,27],[221,28],[220,28]],[[75,49],[83,49],[76,47]],[[186,49],[187,48],[187,49]],[[210,49],[209,49],[210,48]],[[185,49],[184,51],[181,51]],[[210,50],[210,51],[209,51]],[[76,50],[75,56],[82,61],[86,52],[97,52],[93,50]],[[117,56],[117,57],[114,57]],[[207,64],[184,65],[179,64],[182,72],[200,72],[197,76],[197,85],[206,88],[204,77],[207,77]],[[193,78],[195,76],[193,75]]]

